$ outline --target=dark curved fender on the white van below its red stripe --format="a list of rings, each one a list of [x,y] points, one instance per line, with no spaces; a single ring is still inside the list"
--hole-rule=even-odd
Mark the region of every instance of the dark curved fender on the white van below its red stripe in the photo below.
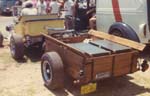
[[[121,32],[124,38],[140,42],[139,37],[137,36],[136,32],[127,24],[122,22],[116,22],[112,24],[109,28],[108,33],[112,34],[114,30],[118,30]]]

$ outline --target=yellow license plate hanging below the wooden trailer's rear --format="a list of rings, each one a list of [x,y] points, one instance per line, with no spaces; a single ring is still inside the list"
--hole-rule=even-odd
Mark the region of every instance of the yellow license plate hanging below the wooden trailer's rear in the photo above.
[[[88,85],[81,86],[81,94],[82,95],[88,94],[88,93],[91,93],[94,91],[96,91],[96,83],[90,83]]]

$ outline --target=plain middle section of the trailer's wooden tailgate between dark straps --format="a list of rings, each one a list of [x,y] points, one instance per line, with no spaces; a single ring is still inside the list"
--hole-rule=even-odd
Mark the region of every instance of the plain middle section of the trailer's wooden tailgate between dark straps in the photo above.
[[[113,76],[121,76],[130,73],[132,64],[132,53],[122,53],[115,55],[113,65]]]

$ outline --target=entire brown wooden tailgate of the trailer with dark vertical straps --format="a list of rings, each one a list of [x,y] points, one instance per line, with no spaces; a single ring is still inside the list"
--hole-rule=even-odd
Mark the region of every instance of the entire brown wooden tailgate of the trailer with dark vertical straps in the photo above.
[[[93,80],[136,72],[138,51],[93,58]]]

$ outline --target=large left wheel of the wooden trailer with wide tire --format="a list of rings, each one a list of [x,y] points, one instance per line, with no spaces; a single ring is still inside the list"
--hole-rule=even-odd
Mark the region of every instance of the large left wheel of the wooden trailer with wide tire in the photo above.
[[[46,87],[49,89],[64,86],[64,68],[61,57],[56,52],[48,52],[42,56],[41,72]]]

